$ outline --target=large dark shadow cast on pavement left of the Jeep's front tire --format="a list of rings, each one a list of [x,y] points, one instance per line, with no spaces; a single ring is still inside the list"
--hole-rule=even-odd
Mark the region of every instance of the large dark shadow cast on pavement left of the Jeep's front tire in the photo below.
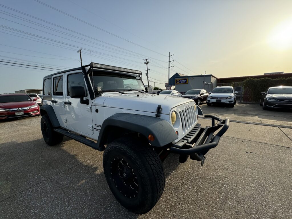
[[[112,195],[103,173],[102,155],[69,138],[53,147],[42,138],[1,143],[0,215],[137,218]],[[179,165],[178,157],[171,154],[165,165],[168,177]]]

